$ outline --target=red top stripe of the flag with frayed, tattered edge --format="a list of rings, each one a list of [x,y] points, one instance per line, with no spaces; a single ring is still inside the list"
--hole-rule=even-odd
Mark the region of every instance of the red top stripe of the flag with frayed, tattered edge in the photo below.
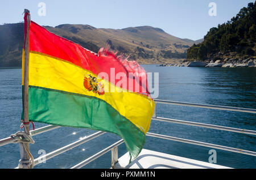
[[[26,19],[24,20],[26,24]],[[32,21],[30,26],[30,51],[64,59],[96,75],[100,72],[106,72],[109,76],[109,82],[117,85],[120,79],[111,77],[113,73],[110,73],[110,68],[114,68],[114,76],[119,72],[126,74],[127,90],[150,96],[147,88],[146,71],[136,61],[119,59],[114,53],[106,49],[98,54],[90,52],[81,45],[57,36]],[[129,85],[129,72],[134,73],[136,77],[132,79],[133,87]],[[119,87],[124,88],[122,85]],[[139,87],[139,91],[135,87]]]

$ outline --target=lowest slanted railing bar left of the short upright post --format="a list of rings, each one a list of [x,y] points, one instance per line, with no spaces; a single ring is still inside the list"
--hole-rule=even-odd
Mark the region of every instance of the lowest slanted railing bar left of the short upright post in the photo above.
[[[110,145],[109,147],[103,149],[102,151],[96,153],[93,156],[90,156],[89,158],[86,158],[86,160],[80,162],[79,164],[73,166],[71,169],[79,169],[82,168],[82,166],[85,166],[86,164],[89,164],[90,162],[96,160],[96,158],[101,157],[102,155],[105,155],[105,153],[109,152],[112,148],[120,145],[123,143],[123,139],[119,140],[118,142]]]

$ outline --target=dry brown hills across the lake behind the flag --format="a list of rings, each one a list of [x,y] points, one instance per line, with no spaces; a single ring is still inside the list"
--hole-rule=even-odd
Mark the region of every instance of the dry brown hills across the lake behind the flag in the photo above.
[[[114,52],[123,53],[139,63],[168,63],[177,58],[184,59],[189,46],[201,42],[178,38],[150,26],[104,29],[62,24],[45,28],[93,52],[98,52],[108,43]],[[22,48],[23,23],[0,25],[0,67],[20,67]]]

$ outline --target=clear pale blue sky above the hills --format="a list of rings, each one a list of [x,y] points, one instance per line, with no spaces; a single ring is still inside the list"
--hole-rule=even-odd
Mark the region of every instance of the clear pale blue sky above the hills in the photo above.
[[[46,16],[39,16],[38,4],[46,5]],[[210,2],[216,3],[216,16],[209,16]],[[40,25],[89,24],[96,28],[122,29],[151,25],[170,35],[197,40],[247,6],[247,0],[22,0],[0,2],[0,24],[23,21],[27,8]]]

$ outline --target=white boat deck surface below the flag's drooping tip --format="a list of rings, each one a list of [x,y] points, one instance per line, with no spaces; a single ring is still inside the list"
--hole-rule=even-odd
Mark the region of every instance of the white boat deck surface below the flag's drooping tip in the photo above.
[[[115,168],[126,169],[155,169],[155,168],[170,168],[170,169],[228,169],[229,167],[209,162],[197,161],[191,158],[169,155],[166,153],[142,149],[141,153],[135,160],[129,164],[129,153],[127,152],[122,157],[118,158]]]

